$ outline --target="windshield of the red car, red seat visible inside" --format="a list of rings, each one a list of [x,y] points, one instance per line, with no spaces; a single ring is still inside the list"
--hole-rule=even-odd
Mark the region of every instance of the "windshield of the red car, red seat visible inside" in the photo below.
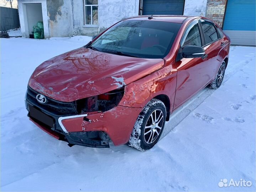
[[[164,58],[181,23],[121,21],[103,33],[90,48],[101,52],[142,58]]]

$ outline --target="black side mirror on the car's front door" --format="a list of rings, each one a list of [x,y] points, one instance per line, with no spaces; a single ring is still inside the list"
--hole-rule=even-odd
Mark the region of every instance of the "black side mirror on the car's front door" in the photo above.
[[[205,52],[203,47],[188,45],[182,48],[182,57],[184,58],[203,57],[204,54]]]

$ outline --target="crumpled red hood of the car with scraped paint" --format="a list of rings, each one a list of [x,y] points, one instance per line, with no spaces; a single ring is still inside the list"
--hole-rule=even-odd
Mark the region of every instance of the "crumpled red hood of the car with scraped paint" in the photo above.
[[[163,65],[163,59],[125,57],[79,48],[39,65],[28,85],[50,98],[70,102],[115,90]]]

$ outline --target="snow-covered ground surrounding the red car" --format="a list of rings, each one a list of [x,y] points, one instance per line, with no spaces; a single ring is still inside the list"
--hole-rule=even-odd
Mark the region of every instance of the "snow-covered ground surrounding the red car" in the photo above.
[[[0,40],[1,191],[255,191],[255,47],[231,47],[221,87],[186,102],[151,150],[69,148],[28,120],[24,96],[37,65],[89,40]]]

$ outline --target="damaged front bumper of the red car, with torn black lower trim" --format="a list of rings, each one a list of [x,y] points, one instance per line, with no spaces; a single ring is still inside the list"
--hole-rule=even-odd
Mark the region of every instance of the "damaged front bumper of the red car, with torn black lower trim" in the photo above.
[[[116,106],[106,112],[60,115],[46,110],[45,104],[38,103],[26,94],[28,117],[39,128],[54,138],[64,140],[70,145],[109,148],[109,139],[114,145],[128,142],[140,108]],[[42,120],[33,118],[29,107],[32,106],[53,118],[53,126],[47,126]],[[47,105],[47,104],[46,104]]]

